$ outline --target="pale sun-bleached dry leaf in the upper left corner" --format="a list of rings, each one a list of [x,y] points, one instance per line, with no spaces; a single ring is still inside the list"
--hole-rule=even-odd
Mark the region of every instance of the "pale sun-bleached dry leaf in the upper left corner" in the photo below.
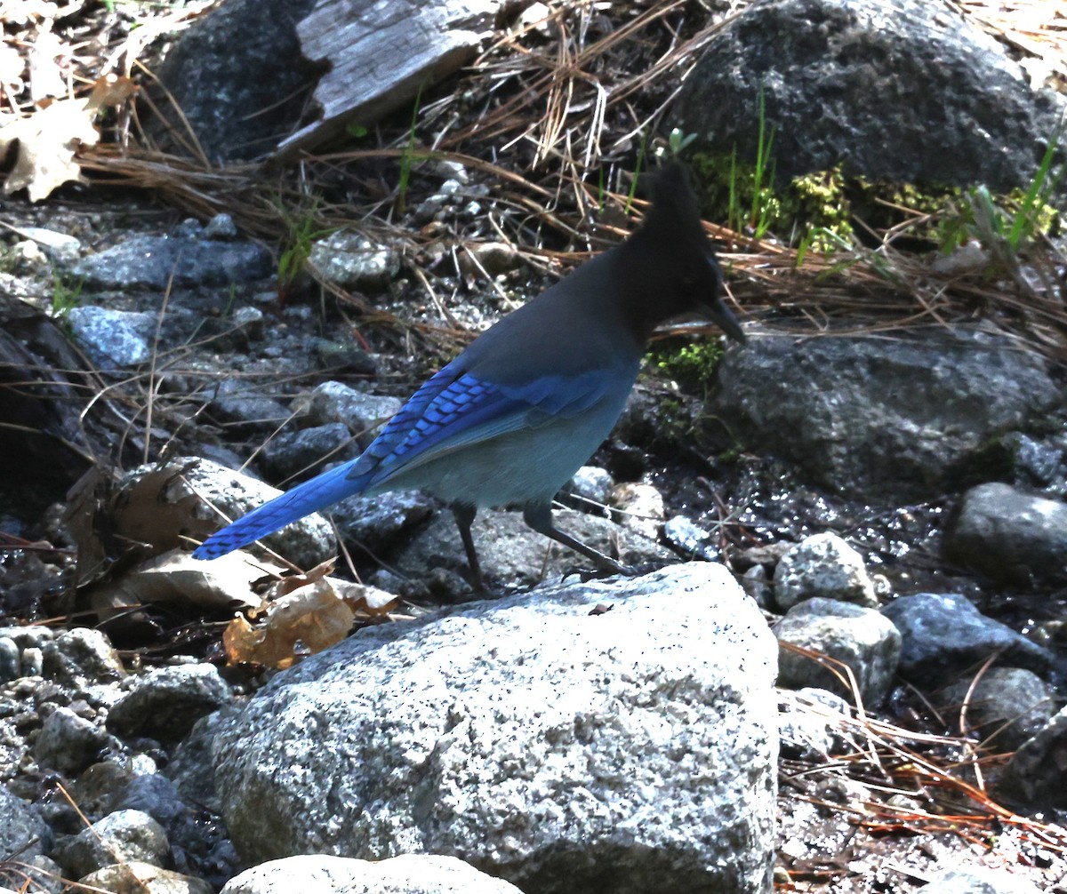
[[[87,99],[57,99],[26,117],[7,116],[0,126],[0,158],[15,141],[18,158],[4,180],[4,194],[26,189],[31,202],[39,202],[63,183],[83,182],[75,155],[99,140],[93,117],[102,106],[121,102],[134,90],[128,78],[101,78]]]

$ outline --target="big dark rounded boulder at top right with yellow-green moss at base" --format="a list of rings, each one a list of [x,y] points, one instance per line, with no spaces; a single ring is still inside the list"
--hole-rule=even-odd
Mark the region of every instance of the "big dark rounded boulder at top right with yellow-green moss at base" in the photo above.
[[[762,91],[782,179],[840,164],[897,182],[1023,186],[1057,101],[971,21],[924,0],[753,3],[704,48],[675,123],[698,147],[754,159]]]

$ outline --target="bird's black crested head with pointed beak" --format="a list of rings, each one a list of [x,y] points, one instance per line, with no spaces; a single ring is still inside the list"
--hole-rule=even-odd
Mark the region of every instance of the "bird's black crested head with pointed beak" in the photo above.
[[[625,243],[635,277],[627,291],[636,302],[636,324],[651,334],[671,317],[699,314],[731,338],[745,341],[744,331],[722,303],[722,271],[685,170],[670,162],[650,179],[652,205],[641,228]]]

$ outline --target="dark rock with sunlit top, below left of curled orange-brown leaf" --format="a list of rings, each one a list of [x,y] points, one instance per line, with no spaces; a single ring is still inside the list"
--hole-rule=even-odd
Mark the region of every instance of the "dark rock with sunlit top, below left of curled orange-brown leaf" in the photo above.
[[[108,715],[108,728],[123,736],[176,741],[205,714],[233,699],[213,665],[158,668],[140,677]]]

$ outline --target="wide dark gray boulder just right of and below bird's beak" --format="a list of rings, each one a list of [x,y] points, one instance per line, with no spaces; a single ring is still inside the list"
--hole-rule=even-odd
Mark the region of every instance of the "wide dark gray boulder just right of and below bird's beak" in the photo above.
[[[1015,342],[931,330],[753,340],[722,357],[708,413],[816,483],[911,500],[943,493],[983,441],[1062,399],[1045,362]]]

